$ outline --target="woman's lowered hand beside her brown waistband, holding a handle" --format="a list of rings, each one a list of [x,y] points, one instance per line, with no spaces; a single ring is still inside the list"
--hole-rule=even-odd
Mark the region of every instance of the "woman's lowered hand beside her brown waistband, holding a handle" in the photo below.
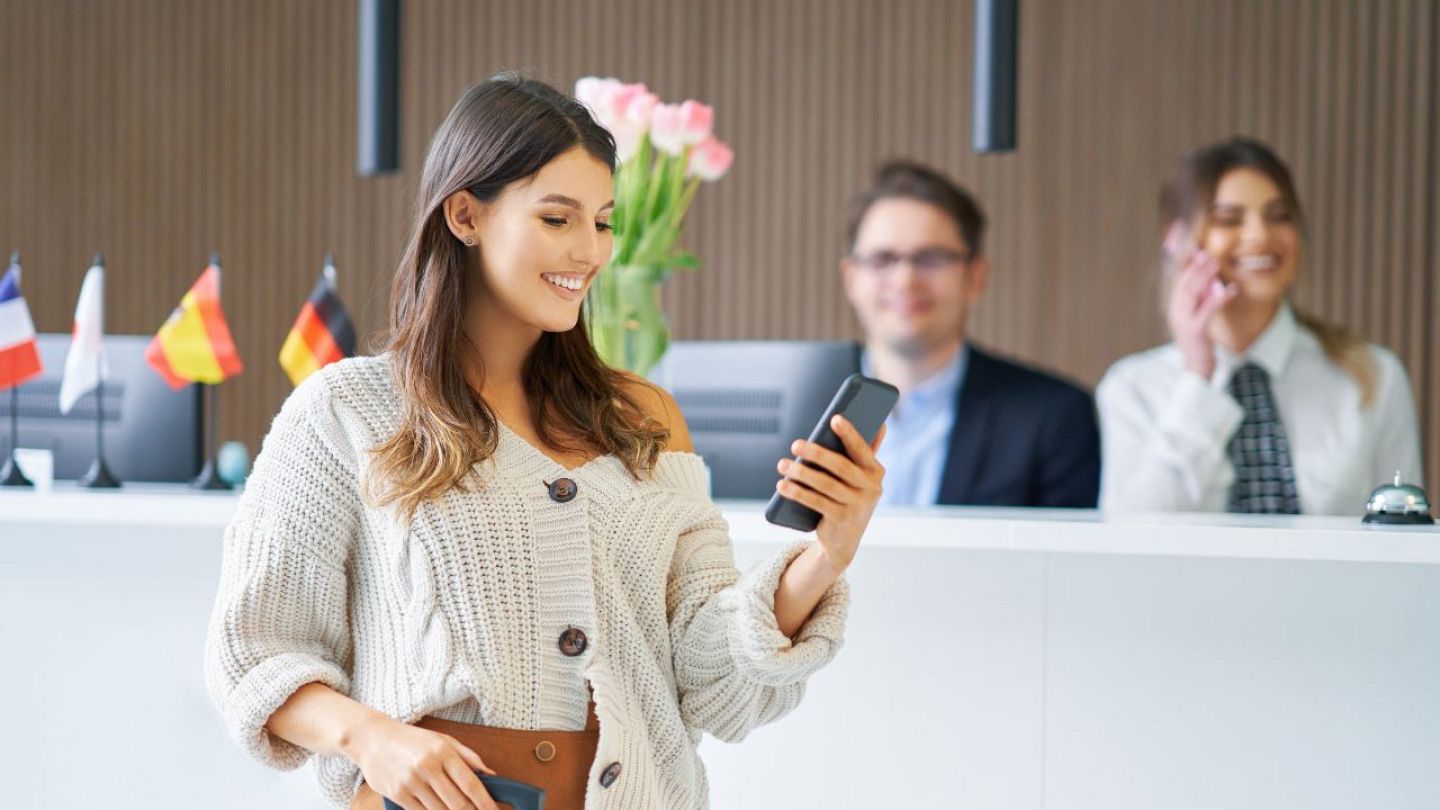
[[[495,771],[454,736],[377,716],[356,729],[346,755],[370,790],[405,810],[498,810],[475,775]]]

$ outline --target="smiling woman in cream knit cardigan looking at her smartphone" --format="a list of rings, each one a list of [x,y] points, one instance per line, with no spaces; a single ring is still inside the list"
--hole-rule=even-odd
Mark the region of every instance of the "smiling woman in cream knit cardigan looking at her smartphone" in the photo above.
[[[308,378],[226,532],[206,650],[239,744],[338,807],[707,806],[701,732],[796,706],[841,644],[881,470],[796,442],[824,516],[743,577],[674,401],[580,320],[615,144],[554,89],[469,89],[431,143],[390,343]],[[878,444],[878,437],[877,437]],[[852,458],[852,460],[851,460]]]

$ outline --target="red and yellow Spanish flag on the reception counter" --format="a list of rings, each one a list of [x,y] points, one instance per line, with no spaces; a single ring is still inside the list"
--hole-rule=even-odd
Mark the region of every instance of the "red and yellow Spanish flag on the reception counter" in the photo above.
[[[174,389],[192,382],[216,385],[240,373],[240,355],[220,311],[219,257],[210,258],[194,287],[150,340],[145,362]]]

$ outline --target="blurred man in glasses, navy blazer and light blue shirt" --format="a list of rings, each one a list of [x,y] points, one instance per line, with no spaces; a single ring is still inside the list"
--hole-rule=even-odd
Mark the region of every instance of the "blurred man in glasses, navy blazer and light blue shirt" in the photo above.
[[[861,370],[900,389],[880,503],[1094,507],[1090,395],[965,337],[989,275],[984,236],[971,195],[914,163],[881,166],[851,205],[840,270],[865,330]]]

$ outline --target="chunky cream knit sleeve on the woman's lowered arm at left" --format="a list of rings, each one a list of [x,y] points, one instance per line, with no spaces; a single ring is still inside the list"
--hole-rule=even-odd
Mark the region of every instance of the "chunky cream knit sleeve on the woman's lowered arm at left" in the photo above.
[[[312,373],[271,424],[225,532],[204,677],[235,739],[264,764],[310,751],[265,731],[301,686],[350,689],[346,559],[356,532],[354,454],[325,375]]]

